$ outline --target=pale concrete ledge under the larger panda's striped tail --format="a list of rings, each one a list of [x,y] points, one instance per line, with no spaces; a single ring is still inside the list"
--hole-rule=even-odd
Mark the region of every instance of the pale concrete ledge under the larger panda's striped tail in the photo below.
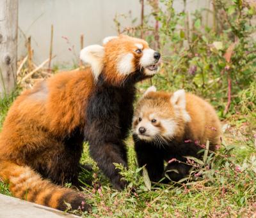
[[[74,218],[77,215],[67,214],[60,210],[50,207],[44,207],[31,203],[29,201],[20,200],[0,194],[0,217],[6,218]]]

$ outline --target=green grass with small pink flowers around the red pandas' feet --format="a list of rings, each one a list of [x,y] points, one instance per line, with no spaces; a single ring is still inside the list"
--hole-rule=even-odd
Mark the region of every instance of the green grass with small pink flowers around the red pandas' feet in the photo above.
[[[0,129],[8,108],[17,92],[0,101]],[[247,115],[246,115],[247,116]],[[246,116],[244,117],[246,119]],[[234,120],[232,123],[236,123]],[[208,156],[195,172],[202,177],[186,185],[152,184],[148,190],[147,177],[141,176],[136,167],[131,137],[129,148],[129,170],[122,170],[130,182],[122,192],[111,188],[109,180],[102,175],[84,145],[81,163],[93,164],[93,172],[80,174],[84,182],[84,193],[93,205],[90,217],[250,217],[256,212],[256,150],[253,127],[248,125],[230,127],[223,137],[223,145],[215,157]],[[254,159],[253,159],[254,158]],[[208,166],[212,168],[209,170]],[[121,167],[122,168],[122,167]],[[193,174],[191,173],[191,177]],[[86,184],[88,180],[92,185]],[[147,184],[147,185],[145,185]],[[67,184],[67,186],[70,184]],[[136,194],[131,187],[135,187]],[[0,193],[10,195],[8,185],[0,182]],[[77,213],[76,211],[73,211]]]

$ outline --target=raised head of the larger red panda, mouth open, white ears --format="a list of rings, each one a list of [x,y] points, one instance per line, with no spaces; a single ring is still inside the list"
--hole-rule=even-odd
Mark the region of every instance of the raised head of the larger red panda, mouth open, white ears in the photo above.
[[[80,58],[90,64],[95,80],[102,75],[109,84],[121,85],[155,75],[160,53],[149,48],[147,41],[121,35],[105,38],[103,46],[83,48]]]

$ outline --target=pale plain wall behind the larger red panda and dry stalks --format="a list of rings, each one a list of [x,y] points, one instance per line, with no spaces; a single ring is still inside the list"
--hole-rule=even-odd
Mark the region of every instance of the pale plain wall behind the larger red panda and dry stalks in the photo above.
[[[182,10],[183,0],[175,0],[174,6]],[[187,8],[193,11],[207,6],[208,0],[188,0]],[[35,62],[47,59],[53,24],[53,54],[57,55],[54,62],[72,64],[79,54],[81,34],[84,46],[101,43],[105,36],[116,34],[115,15],[130,13],[132,18],[140,18],[140,10],[139,0],[19,0],[19,57],[26,55],[25,38],[31,36]],[[145,13],[148,11],[150,7],[146,5]],[[123,19],[122,25],[129,24],[129,19]]]

